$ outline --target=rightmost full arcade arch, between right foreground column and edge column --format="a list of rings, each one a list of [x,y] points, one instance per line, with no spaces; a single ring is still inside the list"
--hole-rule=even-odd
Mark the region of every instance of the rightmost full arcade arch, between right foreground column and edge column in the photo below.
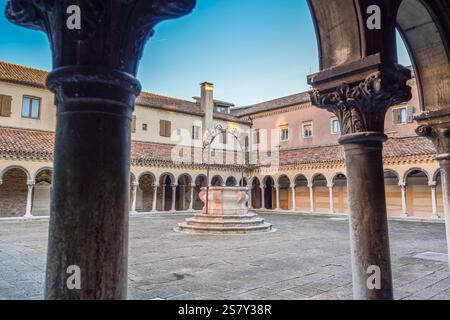
[[[407,173],[405,181],[408,216],[431,218],[433,208],[427,174],[421,169],[413,169]]]

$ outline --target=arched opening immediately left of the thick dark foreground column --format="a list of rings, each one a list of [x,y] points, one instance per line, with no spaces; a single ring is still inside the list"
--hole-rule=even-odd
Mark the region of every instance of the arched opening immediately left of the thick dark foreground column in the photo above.
[[[49,216],[52,194],[52,171],[44,169],[39,171],[35,178],[33,188],[33,216]]]

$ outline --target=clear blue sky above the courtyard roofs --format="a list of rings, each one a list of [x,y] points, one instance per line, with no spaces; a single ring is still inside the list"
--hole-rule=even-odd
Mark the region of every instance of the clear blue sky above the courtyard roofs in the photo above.
[[[0,35],[0,61],[51,69],[43,33],[17,27],[2,14]],[[399,56],[409,63],[403,47]],[[157,26],[138,78],[145,91],[188,100],[199,94],[201,82],[213,82],[217,99],[243,106],[307,90],[306,76],[316,71],[305,0],[197,0],[191,15]]]

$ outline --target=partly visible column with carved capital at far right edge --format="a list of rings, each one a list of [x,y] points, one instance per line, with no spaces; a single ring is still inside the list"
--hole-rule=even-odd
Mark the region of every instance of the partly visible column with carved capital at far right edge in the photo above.
[[[416,120],[420,125],[417,134],[433,141],[437,152],[436,159],[441,167],[447,250],[450,257],[450,108],[424,112],[417,116]]]

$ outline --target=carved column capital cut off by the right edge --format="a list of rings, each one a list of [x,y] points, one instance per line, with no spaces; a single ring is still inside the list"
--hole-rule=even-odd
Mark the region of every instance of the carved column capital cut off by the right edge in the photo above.
[[[430,139],[437,151],[437,160],[450,160],[450,108],[424,112],[415,117],[416,132]]]

